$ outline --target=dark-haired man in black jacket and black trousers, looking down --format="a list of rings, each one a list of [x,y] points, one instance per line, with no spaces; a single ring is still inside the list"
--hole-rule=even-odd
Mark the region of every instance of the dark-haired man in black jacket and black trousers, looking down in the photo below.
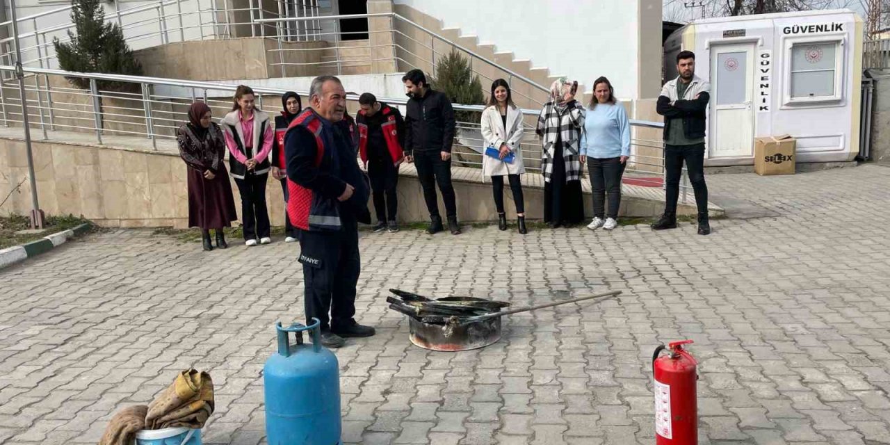
[[[417,178],[424,189],[426,209],[430,212],[429,234],[442,230],[436,183],[445,201],[452,235],[460,233],[457,224],[457,204],[451,185],[451,142],[454,142],[454,110],[448,96],[434,91],[426,83],[424,72],[412,69],[401,78],[408,91],[405,112],[405,160],[416,162]]]

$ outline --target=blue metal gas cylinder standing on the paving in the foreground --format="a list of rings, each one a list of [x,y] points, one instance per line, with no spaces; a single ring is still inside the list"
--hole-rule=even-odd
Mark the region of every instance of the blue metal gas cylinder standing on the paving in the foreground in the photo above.
[[[338,445],[340,378],[336,355],[321,346],[318,319],[312,326],[295,323],[278,330],[278,353],[263,367],[266,439],[269,445]],[[312,344],[303,344],[303,331]],[[296,344],[290,344],[290,332]]]

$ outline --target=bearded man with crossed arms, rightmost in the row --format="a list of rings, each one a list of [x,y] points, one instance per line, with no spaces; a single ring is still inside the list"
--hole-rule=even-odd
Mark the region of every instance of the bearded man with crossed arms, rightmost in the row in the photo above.
[[[708,235],[708,186],[705,184],[705,121],[710,87],[695,76],[695,54],[682,51],[676,55],[680,74],[664,85],[656,110],[665,117],[665,213],[652,224],[656,231],[676,228],[676,200],[680,195],[683,163],[695,191],[699,211],[699,234]]]

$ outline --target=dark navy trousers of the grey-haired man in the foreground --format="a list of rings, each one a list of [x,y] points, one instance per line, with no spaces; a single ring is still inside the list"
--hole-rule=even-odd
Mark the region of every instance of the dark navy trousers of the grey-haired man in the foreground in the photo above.
[[[321,321],[324,330],[350,326],[361,271],[359,232],[354,224],[336,233],[297,230],[297,239],[299,261],[303,263],[307,326],[313,317]]]

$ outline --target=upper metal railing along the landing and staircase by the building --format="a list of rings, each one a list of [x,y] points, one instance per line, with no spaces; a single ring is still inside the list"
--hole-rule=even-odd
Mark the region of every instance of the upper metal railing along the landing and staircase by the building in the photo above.
[[[306,5],[316,0],[301,0]],[[523,106],[543,105],[547,88],[529,77],[491,61],[480,53],[452,42],[430,29],[397,13],[311,15],[289,17],[303,13],[294,1],[279,0],[278,11],[263,7],[262,0],[248,0],[247,7],[234,8],[230,2],[217,0],[158,0],[106,13],[106,21],[117,23],[125,34],[127,44],[138,50],[158,44],[194,40],[258,36],[276,44],[267,50],[269,75],[317,76],[336,73],[359,74],[370,72],[375,62],[388,62],[386,72],[421,68],[436,75],[438,61],[452,50],[463,53],[473,73],[480,77],[482,89],[496,78],[505,78],[514,93],[514,101]],[[118,8],[115,3],[115,8]],[[70,41],[69,31],[74,24],[69,19],[71,7],[63,7],[20,18],[22,65],[25,67],[57,69],[59,61],[53,40]],[[305,13],[323,12],[318,6],[307,6]],[[342,32],[341,20],[389,20],[386,29],[368,32]],[[61,24],[59,24],[61,22]],[[10,21],[0,23],[9,25]],[[371,44],[371,38],[351,39],[358,34],[386,35],[384,44]],[[307,44],[315,42],[319,44]],[[12,65],[12,37],[0,39],[0,62]],[[277,70],[277,72],[276,72]]]

